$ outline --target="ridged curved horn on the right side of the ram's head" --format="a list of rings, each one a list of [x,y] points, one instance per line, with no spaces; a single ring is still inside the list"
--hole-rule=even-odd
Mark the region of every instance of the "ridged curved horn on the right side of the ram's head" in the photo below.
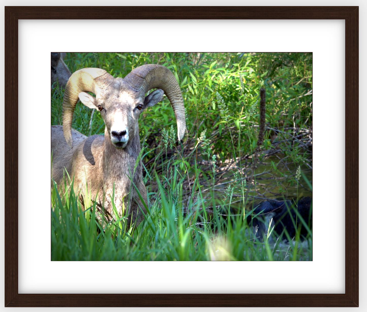
[[[172,72],[164,66],[146,64],[132,70],[125,78],[132,89],[144,95],[150,89],[162,89],[172,105],[177,121],[177,137],[182,140],[186,130],[185,107],[180,87]]]

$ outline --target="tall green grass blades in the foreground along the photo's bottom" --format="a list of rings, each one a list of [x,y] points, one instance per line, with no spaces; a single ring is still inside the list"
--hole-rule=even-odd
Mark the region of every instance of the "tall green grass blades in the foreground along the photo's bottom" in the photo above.
[[[199,196],[183,205],[182,179],[177,168],[164,188],[150,193],[153,204],[138,227],[125,233],[115,222],[101,224],[95,203],[84,196],[85,209],[73,190],[52,190],[52,260],[312,260],[312,249],[270,239],[252,239],[241,215],[224,218]],[[200,192],[199,192],[200,195]],[[86,200],[87,198],[87,200]],[[229,204],[229,203],[228,203]],[[224,204],[221,211],[229,211]],[[311,237],[312,233],[310,232]],[[312,242],[309,239],[309,244]],[[281,243],[281,244],[280,244]],[[283,250],[283,251],[280,251]]]

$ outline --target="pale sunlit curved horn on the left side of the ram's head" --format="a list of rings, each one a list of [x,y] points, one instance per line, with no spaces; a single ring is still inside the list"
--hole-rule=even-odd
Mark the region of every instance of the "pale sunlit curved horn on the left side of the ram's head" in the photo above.
[[[71,124],[79,93],[93,92],[97,95],[109,86],[111,79],[115,78],[100,68],[83,68],[70,76],[62,102],[62,125],[65,140],[71,148],[73,148]]]

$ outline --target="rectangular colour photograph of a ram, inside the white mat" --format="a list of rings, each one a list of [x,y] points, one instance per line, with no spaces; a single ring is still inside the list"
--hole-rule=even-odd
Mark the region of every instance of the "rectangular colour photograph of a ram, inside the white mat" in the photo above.
[[[312,52],[51,52],[52,261],[312,261]]]

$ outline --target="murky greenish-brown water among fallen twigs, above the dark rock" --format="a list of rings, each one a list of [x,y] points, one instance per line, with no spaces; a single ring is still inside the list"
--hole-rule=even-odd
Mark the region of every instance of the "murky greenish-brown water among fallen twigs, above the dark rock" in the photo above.
[[[246,179],[245,188],[241,187],[238,179],[235,181],[236,165],[233,163],[230,166],[229,161],[222,163],[215,174],[214,196],[217,205],[220,206],[223,200],[229,203],[230,196],[228,187],[232,189],[233,196],[231,210],[243,209],[243,197],[247,198],[249,203],[252,200],[261,201],[265,199],[291,199],[301,197],[312,197],[312,169],[306,165],[301,166],[302,176],[298,181],[295,179],[297,167],[293,162],[288,161],[289,157],[283,154],[272,155],[267,157],[261,165],[255,169],[255,177],[252,175],[251,159],[242,160],[242,178],[243,183]],[[204,163],[204,162],[203,162]],[[202,163],[202,164],[203,164]],[[204,163],[205,164],[205,163]],[[237,166],[240,167],[239,161]],[[240,169],[240,168],[239,168]],[[308,183],[306,182],[308,180]],[[203,187],[201,192],[211,198],[213,184],[211,179],[200,183]],[[297,193],[298,189],[298,193]]]

